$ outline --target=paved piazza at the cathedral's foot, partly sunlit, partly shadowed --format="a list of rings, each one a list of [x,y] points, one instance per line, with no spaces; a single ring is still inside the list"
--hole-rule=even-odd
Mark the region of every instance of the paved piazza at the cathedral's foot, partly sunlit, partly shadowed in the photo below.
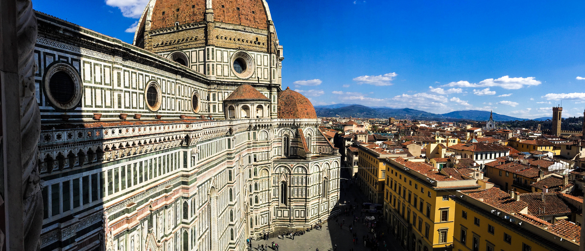
[[[344,173],[345,174],[345,173]],[[347,180],[345,180],[346,183],[343,184],[343,187],[347,187],[347,189],[342,190],[341,192],[341,201],[347,201],[347,204],[345,204],[343,207],[345,208],[349,208],[350,205],[361,205],[364,201],[364,199],[366,197],[363,196],[363,194],[359,191],[359,188],[357,187],[357,184],[347,184]],[[354,202],[354,200],[356,200]],[[363,242],[363,236],[364,235],[368,235],[370,238],[373,237],[372,233],[367,233],[367,227],[365,223],[362,223],[362,219],[365,216],[372,216],[373,214],[366,214],[364,213],[362,216],[360,216],[360,209],[357,208],[355,210],[355,214],[356,216],[360,216],[360,221],[359,223],[356,223],[355,226],[352,226],[353,229],[352,231],[354,233],[357,233],[358,236],[358,242],[356,245],[353,244],[352,239],[353,239],[353,235],[352,233],[349,232],[349,225],[352,224],[352,214],[349,215],[345,215],[343,213],[343,211],[345,210],[345,208],[342,209],[342,215],[339,215],[338,217],[338,222],[339,224],[337,224],[335,222],[335,218],[330,220],[329,222],[324,222],[323,223],[323,228],[322,231],[313,229],[310,232],[305,232],[304,235],[301,236],[294,236],[294,240],[290,239],[288,236],[283,238],[278,238],[278,237],[274,237],[274,238],[269,238],[268,240],[253,240],[252,241],[252,248],[250,249],[250,247],[248,248],[248,250],[253,250],[256,251],[258,250],[258,245],[263,245],[266,249],[266,245],[268,245],[269,247],[266,250],[273,250],[271,249],[271,243],[275,242],[278,243],[278,245],[280,246],[278,251],[294,251],[294,250],[311,250],[314,251],[315,249],[319,249],[319,251],[326,251],[326,250],[333,250],[333,246],[337,245],[337,250],[338,251],[349,251],[349,250],[354,250],[354,251],[362,251],[362,250],[380,250],[380,251],[385,251],[385,250],[397,250],[397,251],[404,251],[404,249],[402,249],[402,247],[400,247],[400,244],[398,243],[398,240],[394,239],[393,236],[391,235],[387,235],[388,231],[388,226],[386,225],[386,223],[384,222],[380,222],[378,221],[378,226],[376,227],[376,232],[377,235],[384,232],[384,236],[383,238],[378,238],[378,241],[380,242],[380,247],[378,249],[371,249],[370,247],[364,247],[364,242]],[[378,219],[378,215],[373,215],[376,217],[376,219]],[[343,222],[343,219],[345,219],[345,224],[343,224],[343,227],[340,229],[339,225]],[[386,241],[386,247],[384,247],[383,245],[383,241]],[[275,249],[276,250],[276,249]]]

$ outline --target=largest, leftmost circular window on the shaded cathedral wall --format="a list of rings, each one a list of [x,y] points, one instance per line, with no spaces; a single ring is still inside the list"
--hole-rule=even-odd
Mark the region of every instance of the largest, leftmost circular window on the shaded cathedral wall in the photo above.
[[[81,80],[77,70],[66,63],[56,63],[44,75],[47,99],[59,109],[73,109],[81,100]]]

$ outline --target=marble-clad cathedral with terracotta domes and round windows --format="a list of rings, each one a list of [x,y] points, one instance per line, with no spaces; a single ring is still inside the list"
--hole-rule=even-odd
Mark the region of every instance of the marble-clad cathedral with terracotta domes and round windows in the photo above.
[[[339,211],[265,0],[150,0],[133,44],[35,15],[41,250],[246,250]]]

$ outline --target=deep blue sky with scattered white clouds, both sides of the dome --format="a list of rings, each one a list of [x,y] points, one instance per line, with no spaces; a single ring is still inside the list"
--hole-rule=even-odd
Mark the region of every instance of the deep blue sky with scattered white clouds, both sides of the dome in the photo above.
[[[583,116],[585,1],[267,2],[284,46],[283,88],[314,105],[538,118],[562,100],[563,116]],[[132,43],[146,3],[33,8]]]

